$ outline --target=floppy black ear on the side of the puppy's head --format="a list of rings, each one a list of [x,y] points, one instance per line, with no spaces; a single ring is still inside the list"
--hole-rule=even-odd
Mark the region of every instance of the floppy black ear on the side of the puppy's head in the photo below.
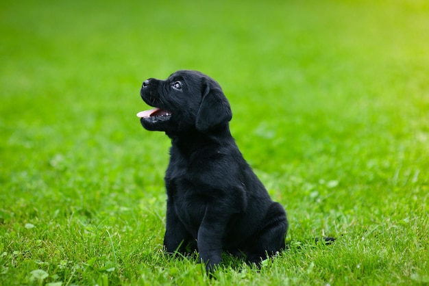
[[[230,103],[228,103],[221,87],[218,84],[207,82],[195,127],[200,132],[208,132],[229,122],[231,118]]]

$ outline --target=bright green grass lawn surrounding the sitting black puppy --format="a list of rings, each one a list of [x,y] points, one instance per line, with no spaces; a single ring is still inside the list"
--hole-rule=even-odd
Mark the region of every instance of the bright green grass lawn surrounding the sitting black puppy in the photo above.
[[[0,285],[427,285],[427,1],[150,2],[1,2]],[[135,114],[184,68],[288,211],[259,272],[162,252],[169,140]]]

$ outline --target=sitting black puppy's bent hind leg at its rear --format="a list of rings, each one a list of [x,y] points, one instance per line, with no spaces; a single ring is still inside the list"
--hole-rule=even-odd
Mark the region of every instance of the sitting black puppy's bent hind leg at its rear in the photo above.
[[[252,239],[247,249],[247,260],[249,263],[260,265],[260,262],[272,257],[276,252],[284,250],[284,239],[288,228],[286,212],[282,205],[273,203],[265,217],[266,224]]]

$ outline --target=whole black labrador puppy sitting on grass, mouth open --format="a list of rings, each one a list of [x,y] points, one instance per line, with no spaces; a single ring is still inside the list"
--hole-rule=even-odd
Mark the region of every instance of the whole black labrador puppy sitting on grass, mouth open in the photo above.
[[[282,250],[286,213],[241,155],[230,133],[230,104],[219,83],[193,70],[147,79],[140,95],[154,109],[137,114],[171,138],[165,174],[167,252],[199,252],[208,271],[222,250],[249,263]]]

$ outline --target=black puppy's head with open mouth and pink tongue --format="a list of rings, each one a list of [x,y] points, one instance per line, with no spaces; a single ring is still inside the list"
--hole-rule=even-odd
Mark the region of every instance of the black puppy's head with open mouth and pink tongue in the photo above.
[[[208,133],[228,125],[230,104],[214,79],[194,70],[179,70],[168,79],[147,79],[140,95],[154,109],[139,112],[150,131]]]

